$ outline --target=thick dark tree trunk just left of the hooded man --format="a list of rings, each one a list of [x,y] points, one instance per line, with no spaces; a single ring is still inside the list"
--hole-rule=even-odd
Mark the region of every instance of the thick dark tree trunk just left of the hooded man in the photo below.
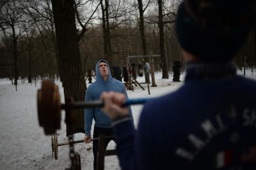
[[[78,34],[75,25],[74,0],[52,1],[55,30],[58,43],[61,74],[65,101],[73,97],[83,101],[86,94],[86,82],[81,65]],[[83,109],[73,110],[73,122],[67,123],[67,135],[84,133]]]

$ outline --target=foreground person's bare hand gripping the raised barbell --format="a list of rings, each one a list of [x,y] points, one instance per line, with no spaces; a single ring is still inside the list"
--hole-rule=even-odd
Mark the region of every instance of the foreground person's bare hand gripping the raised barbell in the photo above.
[[[102,93],[101,100],[104,100],[104,108],[102,111],[113,120],[117,117],[128,115],[128,108],[122,108],[125,103],[126,97],[122,93]]]

